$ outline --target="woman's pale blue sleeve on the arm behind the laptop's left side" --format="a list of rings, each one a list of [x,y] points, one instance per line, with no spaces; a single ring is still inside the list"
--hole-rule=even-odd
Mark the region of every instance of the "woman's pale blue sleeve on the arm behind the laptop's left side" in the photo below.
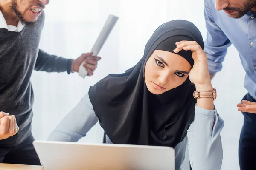
[[[98,122],[89,95],[86,94],[75,108],[64,117],[50,134],[49,141],[77,142]]]

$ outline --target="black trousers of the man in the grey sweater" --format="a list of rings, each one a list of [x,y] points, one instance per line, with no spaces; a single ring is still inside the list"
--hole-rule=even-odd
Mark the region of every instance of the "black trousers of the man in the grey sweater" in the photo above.
[[[0,146],[0,163],[41,165],[32,134],[17,146]]]

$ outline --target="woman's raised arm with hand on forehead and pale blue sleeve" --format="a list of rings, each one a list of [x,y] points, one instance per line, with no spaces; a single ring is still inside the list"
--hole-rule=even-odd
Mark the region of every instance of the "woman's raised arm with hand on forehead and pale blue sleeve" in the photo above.
[[[191,50],[194,65],[189,79],[196,91],[212,91],[207,56],[195,41],[177,42],[177,49]],[[189,161],[193,170],[220,170],[223,158],[220,132],[223,120],[214,109],[213,98],[197,98],[195,120],[190,125],[188,136]]]

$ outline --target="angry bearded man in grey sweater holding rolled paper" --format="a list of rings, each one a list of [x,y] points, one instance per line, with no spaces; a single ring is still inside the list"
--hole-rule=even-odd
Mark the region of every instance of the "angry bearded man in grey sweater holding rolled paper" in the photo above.
[[[16,135],[0,140],[0,163],[40,164],[32,145],[32,71],[70,74],[78,72],[85,60],[84,69],[91,76],[100,59],[92,53],[76,60],[64,59],[38,48],[43,9],[48,3],[49,0],[0,0],[0,111],[15,115],[19,126]]]

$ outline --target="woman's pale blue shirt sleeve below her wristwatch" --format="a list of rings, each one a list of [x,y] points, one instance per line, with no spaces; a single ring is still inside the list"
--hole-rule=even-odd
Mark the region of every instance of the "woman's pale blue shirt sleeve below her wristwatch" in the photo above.
[[[220,132],[223,126],[216,109],[210,111],[195,107],[195,120],[187,133],[192,170],[221,169],[223,150]]]

